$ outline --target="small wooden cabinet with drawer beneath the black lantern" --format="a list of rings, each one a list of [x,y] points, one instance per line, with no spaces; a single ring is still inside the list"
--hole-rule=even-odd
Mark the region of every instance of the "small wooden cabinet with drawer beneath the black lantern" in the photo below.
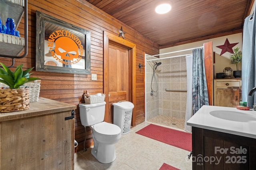
[[[241,98],[241,79],[214,79],[214,106],[236,107]]]

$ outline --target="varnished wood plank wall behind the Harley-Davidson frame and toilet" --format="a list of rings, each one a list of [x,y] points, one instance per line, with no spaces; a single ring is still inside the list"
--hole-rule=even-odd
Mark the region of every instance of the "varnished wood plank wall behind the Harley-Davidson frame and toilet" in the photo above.
[[[136,44],[136,65],[144,65],[144,53],[156,55],[159,53],[158,44],[142,36],[136,30],[128,27],[121,21],[99,10],[85,0],[29,0],[28,1],[28,55],[23,59],[16,59],[15,65],[11,69],[23,63],[24,68],[35,67],[36,61],[36,10],[66,21],[78,27],[91,31],[91,73],[97,74],[97,80],[91,81],[90,75],[64,74],[52,72],[32,71],[33,76],[40,77],[41,88],[40,96],[74,104],[77,106],[75,114],[75,139],[79,143],[78,151],[83,149],[85,139],[85,129],[81,125],[79,116],[80,103],[84,103],[82,97],[84,90],[90,94],[103,93],[103,31],[108,31],[116,36],[119,35],[118,29],[123,28],[126,32],[126,40]],[[21,36],[24,35],[24,20],[21,21],[18,30]],[[0,52],[2,53],[2,51]],[[0,62],[11,65],[10,59],[0,57]],[[140,72],[136,68],[136,125],[145,119],[144,110],[144,67]],[[86,147],[92,145],[91,130],[88,131]],[[40,132],[38,132],[40,133]]]

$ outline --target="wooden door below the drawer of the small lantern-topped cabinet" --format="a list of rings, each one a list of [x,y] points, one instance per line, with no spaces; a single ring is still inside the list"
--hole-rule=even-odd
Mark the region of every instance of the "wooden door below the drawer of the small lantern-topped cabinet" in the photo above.
[[[224,107],[236,107],[240,102],[239,88],[218,88],[216,92],[217,105]]]

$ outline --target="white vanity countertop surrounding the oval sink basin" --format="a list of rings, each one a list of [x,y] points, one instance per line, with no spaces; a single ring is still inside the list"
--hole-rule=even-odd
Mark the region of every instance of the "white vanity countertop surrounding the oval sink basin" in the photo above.
[[[247,121],[239,121],[239,119],[238,121],[233,121],[215,117],[210,114],[211,111],[235,111],[250,118]],[[235,115],[230,118],[235,119]],[[239,110],[235,107],[202,106],[187,121],[187,125],[256,139],[256,111],[253,110]]]

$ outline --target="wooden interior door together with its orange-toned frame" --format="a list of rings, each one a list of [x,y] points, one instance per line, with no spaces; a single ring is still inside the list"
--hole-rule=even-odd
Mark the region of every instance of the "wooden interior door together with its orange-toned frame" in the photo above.
[[[131,122],[131,126],[135,126],[136,125],[136,44],[127,41],[121,37],[118,37],[116,35],[113,35],[111,33],[108,33],[106,31],[104,31],[104,94],[106,94],[106,98],[105,98],[105,102],[106,102],[106,107],[105,107],[105,117],[104,117],[104,121],[106,122],[113,122],[113,106],[111,107],[112,103],[114,103],[114,101],[116,100],[116,102],[122,101],[122,100],[127,100],[130,101],[134,104],[134,108],[133,108],[133,112],[132,112],[132,122]],[[112,47],[111,47],[112,46]],[[114,47],[113,47],[114,46]],[[118,47],[118,48],[116,48]],[[115,49],[115,50],[113,50]],[[109,52],[109,50],[111,52]],[[127,59],[124,60],[124,58],[121,58],[122,60],[120,61],[120,58],[118,59],[118,61],[112,61],[112,56],[109,56],[110,54],[114,54],[114,56],[116,55],[116,53],[114,53],[114,51],[118,51],[118,56],[123,56],[125,55],[127,57]],[[125,52],[124,52],[125,51]],[[127,56],[128,54],[128,56]],[[125,57],[125,58],[126,58]],[[115,57],[113,57],[115,59]],[[120,64],[113,64],[119,62]],[[111,63],[113,64],[113,66],[111,65]],[[117,66],[119,67],[119,71],[118,73],[116,73],[116,71],[113,71],[110,69],[110,67],[114,67]],[[110,69],[110,70],[109,70]],[[120,72],[122,70],[127,71],[126,74],[121,74]],[[114,99],[114,92],[113,94],[110,94],[110,100],[111,102],[109,102],[109,98],[108,98],[108,93],[109,93],[109,85],[111,83],[109,83],[109,81],[112,81],[109,77],[111,77],[114,74],[119,74],[120,78],[116,78],[116,82],[118,84],[118,86],[121,85],[120,89],[124,89],[125,85],[126,88],[128,87],[127,90],[121,90],[121,92],[119,94],[117,94],[118,96],[116,96]],[[126,76],[124,76],[126,75]],[[128,76],[127,76],[128,75]],[[121,81],[121,82],[120,82]],[[124,82],[125,81],[125,82]],[[112,84],[111,84],[112,85]],[[126,91],[126,95],[122,94]],[[111,92],[112,93],[112,92]],[[124,99],[126,96],[126,99]],[[112,98],[113,97],[113,98]]]

